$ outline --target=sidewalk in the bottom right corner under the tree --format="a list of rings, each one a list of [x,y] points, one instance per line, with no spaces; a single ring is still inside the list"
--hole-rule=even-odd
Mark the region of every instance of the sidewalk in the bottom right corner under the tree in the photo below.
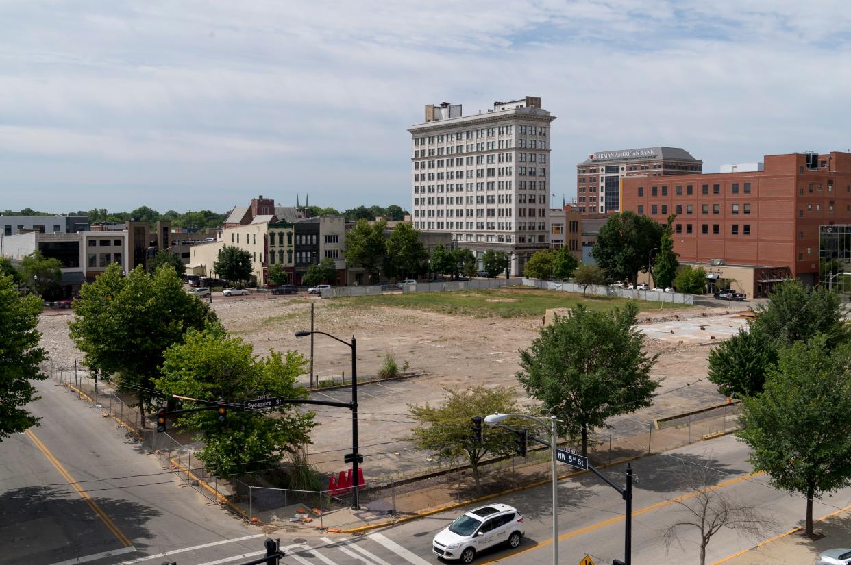
[[[796,528],[712,565],[809,565],[821,551],[851,547],[849,508],[822,516],[814,523],[815,531],[824,534],[820,539],[808,539],[802,535],[802,528]]]

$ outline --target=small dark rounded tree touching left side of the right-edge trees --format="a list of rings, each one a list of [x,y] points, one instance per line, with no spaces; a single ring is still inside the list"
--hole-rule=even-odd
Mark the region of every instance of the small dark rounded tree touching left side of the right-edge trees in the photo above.
[[[762,392],[765,375],[777,362],[777,348],[759,330],[740,329],[709,351],[709,380],[726,397]]]

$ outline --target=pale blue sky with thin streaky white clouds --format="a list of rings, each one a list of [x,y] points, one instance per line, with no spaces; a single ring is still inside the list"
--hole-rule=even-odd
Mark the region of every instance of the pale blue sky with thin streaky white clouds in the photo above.
[[[851,147],[847,0],[0,0],[0,209],[411,204],[407,128],[540,96],[595,151],[705,172]]]

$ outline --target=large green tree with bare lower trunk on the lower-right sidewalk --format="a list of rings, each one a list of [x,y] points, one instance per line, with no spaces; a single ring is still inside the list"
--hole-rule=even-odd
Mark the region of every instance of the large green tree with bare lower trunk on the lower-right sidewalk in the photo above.
[[[851,345],[831,351],[817,335],[780,350],[765,390],[745,397],[736,433],[751,447],[754,471],[771,484],[807,498],[807,535],[813,499],[851,484]]]

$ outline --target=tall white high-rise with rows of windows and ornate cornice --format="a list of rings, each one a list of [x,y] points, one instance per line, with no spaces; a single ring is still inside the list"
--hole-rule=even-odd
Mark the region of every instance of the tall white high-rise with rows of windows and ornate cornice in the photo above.
[[[460,105],[426,106],[414,142],[414,227],[451,233],[479,265],[488,249],[505,251],[511,274],[549,247],[550,123],[540,98],[494,102],[463,117]]]

